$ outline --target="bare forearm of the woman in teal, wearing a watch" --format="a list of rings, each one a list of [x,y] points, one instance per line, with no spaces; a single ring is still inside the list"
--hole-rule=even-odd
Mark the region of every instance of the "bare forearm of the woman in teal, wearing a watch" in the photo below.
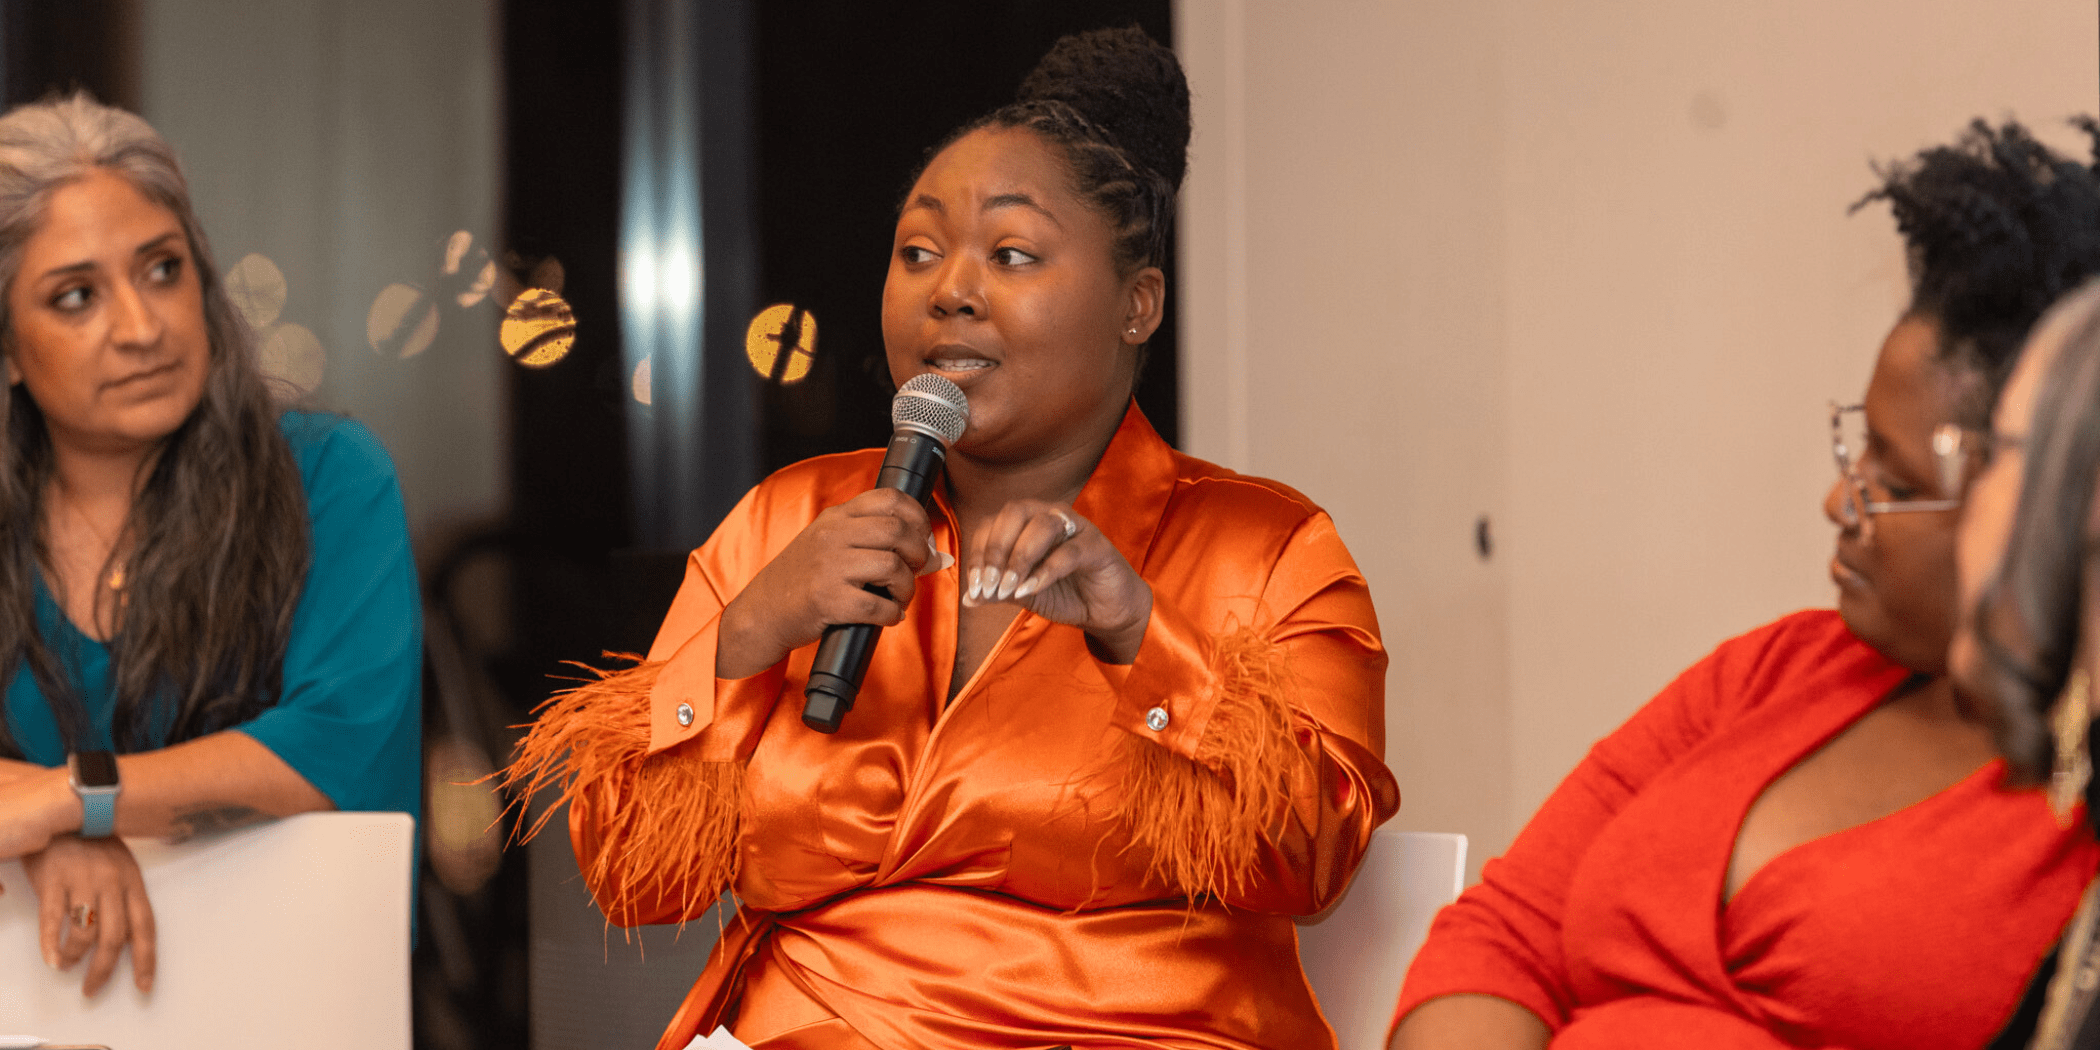
[[[189,838],[336,808],[284,758],[239,731],[120,756],[118,775],[116,830],[132,838]],[[80,796],[63,766],[8,781],[6,788],[0,792],[0,840],[50,840],[80,830]]]

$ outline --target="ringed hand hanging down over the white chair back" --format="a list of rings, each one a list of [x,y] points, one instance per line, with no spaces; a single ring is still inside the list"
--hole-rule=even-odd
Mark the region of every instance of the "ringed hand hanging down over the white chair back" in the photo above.
[[[36,888],[38,943],[50,968],[69,970],[92,947],[94,962],[80,993],[94,995],[128,943],[132,983],[153,991],[153,905],[122,838],[59,836],[42,853],[23,857],[21,867]]]

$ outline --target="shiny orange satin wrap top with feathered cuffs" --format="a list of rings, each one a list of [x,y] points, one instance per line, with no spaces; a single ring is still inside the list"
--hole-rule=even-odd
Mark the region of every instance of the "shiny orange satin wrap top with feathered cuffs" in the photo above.
[[[1292,916],[1342,892],[1399,788],[1378,620],[1327,514],[1176,454],[1132,405],[1073,508],[1153,586],[1136,662],[1021,613],[945,704],[949,567],[821,735],[800,722],[815,647],[718,680],[716,628],[880,460],[806,460],[743,498],[643,666],[643,779],[575,785],[615,922],[695,918],[722,880],[743,905],[659,1046],[729,1023],[760,1050],[1331,1048]],[[930,517],[953,554],[943,498]],[[668,815],[691,798],[704,832]]]

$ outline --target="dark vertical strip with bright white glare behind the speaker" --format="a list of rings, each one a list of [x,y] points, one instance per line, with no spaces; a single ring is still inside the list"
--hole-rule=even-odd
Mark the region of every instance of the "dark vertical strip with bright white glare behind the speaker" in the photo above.
[[[750,19],[743,0],[628,0],[620,229],[634,544],[699,546],[756,481]]]

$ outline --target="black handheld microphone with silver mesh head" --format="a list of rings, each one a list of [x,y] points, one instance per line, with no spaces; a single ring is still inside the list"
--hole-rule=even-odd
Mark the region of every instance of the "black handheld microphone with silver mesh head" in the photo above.
[[[882,472],[876,475],[878,489],[897,489],[918,502],[932,496],[941,466],[947,462],[947,447],[962,437],[970,422],[970,401],[953,382],[924,372],[905,380],[890,401],[890,454],[882,458]],[[867,584],[869,594],[890,596],[888,588]],[[834,624],[823,628],[817,643],[817,662],[808,668],[808,685],[802,689],[802,724],[817,733],[838,733],[838,724],[853,710],[853,697],[861,693],[861,678],[867,676],[867,657],[876,653],[876,624]]]

